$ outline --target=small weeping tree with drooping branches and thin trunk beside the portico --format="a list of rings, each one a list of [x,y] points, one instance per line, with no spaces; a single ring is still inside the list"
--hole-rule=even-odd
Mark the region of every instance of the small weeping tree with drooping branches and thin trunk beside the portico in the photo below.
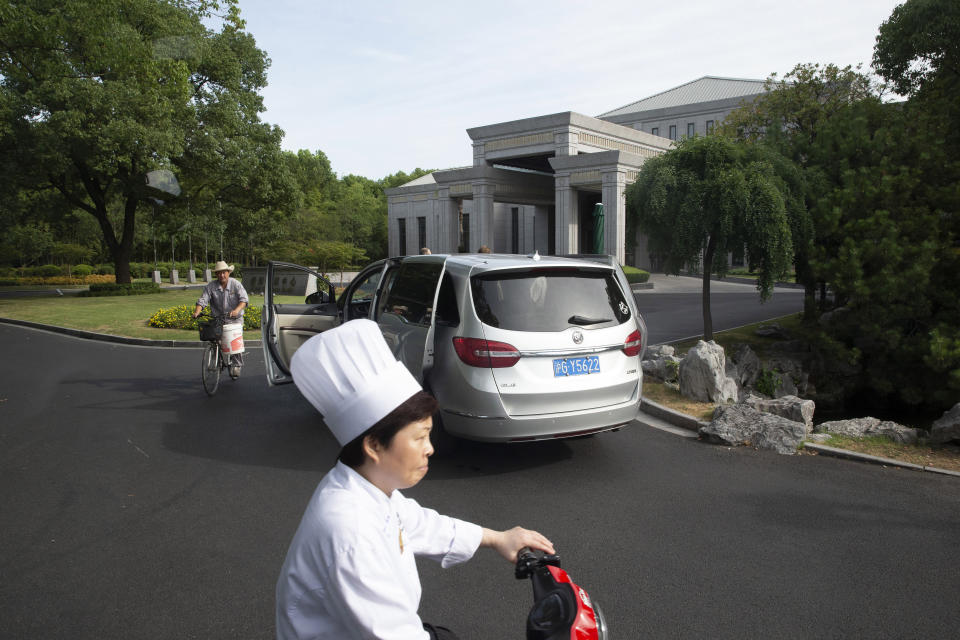
[[[627,188],[628,215],[651,249],[665,256],[667,273],[702,265],[706,340],[713,339],[710,275],[726,273],[728,253],[746,249],[760,272],[764,300],[790,266],[789,203],[796,198],[777,175],[778,162],[762,146],[721,136],[687,138],[648,160]]]

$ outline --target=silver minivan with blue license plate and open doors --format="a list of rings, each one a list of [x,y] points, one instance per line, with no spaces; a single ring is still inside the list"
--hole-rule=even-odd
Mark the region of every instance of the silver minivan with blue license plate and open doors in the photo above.
[[[291,381],[296,349],[317,332],[374,320],[397,359],[440,403],[449,434],[517,442],[630,423],[640,406],[646,326],[609,256],[418,255],[375,262],[336,298],[274,301],[270,263],[263,348],[271,384]],[[273,286],[271,286],[273,285]]]

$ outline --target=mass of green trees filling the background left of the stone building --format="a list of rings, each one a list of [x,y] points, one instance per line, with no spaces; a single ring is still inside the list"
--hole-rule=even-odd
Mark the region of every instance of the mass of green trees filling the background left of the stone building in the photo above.
[[[384,189],[424,172],[281,151],[268,65],[236,0],[0,4],[0,264],[384,256]]]

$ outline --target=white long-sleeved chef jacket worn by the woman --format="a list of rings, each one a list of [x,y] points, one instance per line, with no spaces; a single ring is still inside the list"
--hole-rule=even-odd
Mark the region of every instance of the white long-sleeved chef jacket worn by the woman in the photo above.
[[[482,537],[479,526],[399,491],[387,497],[338,462],[310,499],[280,570],[277,638],[426,640],[414,556],[446,568],[469,560]]]

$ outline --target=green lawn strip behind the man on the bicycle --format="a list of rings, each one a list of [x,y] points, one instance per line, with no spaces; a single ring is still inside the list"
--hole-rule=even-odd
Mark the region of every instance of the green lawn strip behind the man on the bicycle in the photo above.
[[[173,289],[140,296],[0,298],[0,317],[130,338],[197,340],[196,331],[156,329],[147,320],[159,309],[192,306],[199,295],[199,289]],[[281,296],[277,301],[303,302],[303,298]],[[263,296],[251,295],[250,305],[263,306]],[[245,331],[244,337],[259,340],[260,331]]]

